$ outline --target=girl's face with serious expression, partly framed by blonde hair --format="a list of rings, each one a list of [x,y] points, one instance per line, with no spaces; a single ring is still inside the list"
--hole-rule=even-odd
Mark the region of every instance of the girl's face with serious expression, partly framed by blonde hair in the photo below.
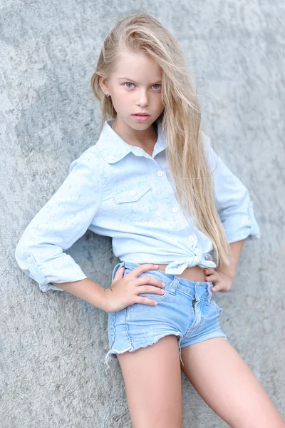
[[[100,86],[108,91],[117,118],[116,126],[144,131],[163,111],[162,68],[142,52],[123,51],[117,61],[115,71],[108,79],[102,78]],[[135,113],[147,113],[134,116]]]

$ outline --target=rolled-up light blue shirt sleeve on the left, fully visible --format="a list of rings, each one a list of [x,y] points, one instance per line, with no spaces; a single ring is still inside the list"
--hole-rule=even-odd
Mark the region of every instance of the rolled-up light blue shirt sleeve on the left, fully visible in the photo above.
[[[71,255],[63,251],[86,233],[100,208],[101,192],[100,174],[92,156],[76,159],[61,187],[21,235],[15,250],[16,262],[43,292],[63,291],[51,282],[87,277]]]

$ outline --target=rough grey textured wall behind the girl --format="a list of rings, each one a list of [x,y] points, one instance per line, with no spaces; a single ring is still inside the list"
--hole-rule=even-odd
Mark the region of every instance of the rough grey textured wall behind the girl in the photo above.
[[[135,12],[177,37],[209,135],[254,200],[261,240],[244,245],[232,290],[214,299],[229,341],[285,417],[284,10],[280,0],[1,2],[1,427],[131,426],[118,361],[103,365],[107,313],[41,292],[14,249],[98,138],[90,76],[110,26]],[[88,231],[67,253],[110,286],[119,261],[110,238]],[[183,428],[227,426],[183,373],[182,397]]]

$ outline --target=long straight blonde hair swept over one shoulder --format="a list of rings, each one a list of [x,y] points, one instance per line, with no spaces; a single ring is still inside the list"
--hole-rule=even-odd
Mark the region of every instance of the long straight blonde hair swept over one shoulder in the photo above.
[[[164,110],[157,121],[162,121],[165,132],[167,164],[180,208],[187,218],[186,205],[195,227],[212,241],[215,263],[229,265],[233,260],[231,248],[214,205],[214,180],[204,150],[201,111],[190,72],[175,38],[149,14],[120,18],[103,42],[91,77],[91,87],[102,110],[100,131],[108,117],[117,116],[111,97],[106,97],[100,88],[100,76],[110,76],[123,49],[143,52],[162,68]]]

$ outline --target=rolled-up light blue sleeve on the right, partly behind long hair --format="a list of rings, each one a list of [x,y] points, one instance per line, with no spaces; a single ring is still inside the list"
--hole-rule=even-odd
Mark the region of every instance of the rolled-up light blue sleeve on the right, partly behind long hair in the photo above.
[[[232,173],[205,137],[207,158],[214,178],[215,206],[229,243],[243,239],[259,239],[261,233],[254,216],[254,203],[249,190]]]

